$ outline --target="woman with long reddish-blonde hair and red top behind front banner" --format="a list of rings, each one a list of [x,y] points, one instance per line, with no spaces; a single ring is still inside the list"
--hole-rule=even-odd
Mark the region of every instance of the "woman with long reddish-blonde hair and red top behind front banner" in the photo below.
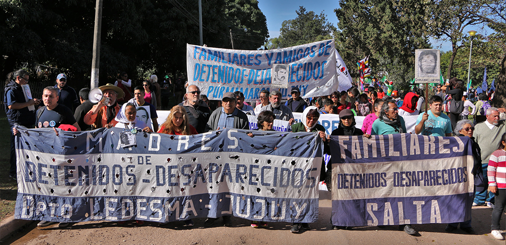
[[[167,119],[158,129],[158,133],[176,134],[176,135],[192,135],[198,134],[197,130],[188,123],[188,114],[182,106],[174,106]]]

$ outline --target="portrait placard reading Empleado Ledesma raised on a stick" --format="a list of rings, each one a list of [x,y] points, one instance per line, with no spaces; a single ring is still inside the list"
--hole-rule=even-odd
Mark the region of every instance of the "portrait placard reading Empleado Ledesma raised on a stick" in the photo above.
[[[415,82],[428,83],[439,81],[439,55],[439,50],[415,51]]]

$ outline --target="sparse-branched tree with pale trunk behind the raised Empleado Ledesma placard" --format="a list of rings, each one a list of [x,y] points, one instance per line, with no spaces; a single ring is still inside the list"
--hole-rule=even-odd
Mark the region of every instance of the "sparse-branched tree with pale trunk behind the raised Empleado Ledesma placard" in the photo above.
[[[473,4],[470,1],[462,0],[437,0],[430,5],[432,36],[440,40],[451,42],[451,56],[447,67],[446,79],[450,79],[453,61],[459,48],[465,44],[462,42],[464,28],[470,25],[477,25],[485,21],[470,14],[468,11],[478,12],[481,5]]]

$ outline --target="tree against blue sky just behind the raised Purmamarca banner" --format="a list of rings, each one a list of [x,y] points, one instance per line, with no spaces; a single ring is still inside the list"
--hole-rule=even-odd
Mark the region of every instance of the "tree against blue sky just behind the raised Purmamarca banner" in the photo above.
[[[316,15],[313,11],[307,12],[306,8],[300,6],[296,13],[295,19],[283,21],[279,37],[270,39],[266,47],[291,47],[333,38],[336,29],[327,21],[323,12]]]

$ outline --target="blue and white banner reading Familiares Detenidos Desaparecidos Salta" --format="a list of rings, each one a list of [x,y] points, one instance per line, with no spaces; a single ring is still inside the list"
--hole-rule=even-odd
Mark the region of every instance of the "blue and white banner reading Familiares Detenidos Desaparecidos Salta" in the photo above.
[[[331,136],[332,224],[377,226],[471,219],[469,137]]]

